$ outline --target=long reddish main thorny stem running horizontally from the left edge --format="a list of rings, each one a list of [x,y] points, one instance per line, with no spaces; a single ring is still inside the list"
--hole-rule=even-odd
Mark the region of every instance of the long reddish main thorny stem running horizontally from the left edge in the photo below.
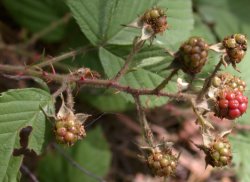
[[[91,86],[95,88],[114,88],[122,92],[126,92],[129,94],[137,94],[137,95],[157,95],[157,96],[164,96],[170,98],[176,98],[179,100],[187,100],[190,98],[195,98],[196,96],[193,94],[188,93],[169,93],[169,92],[155,92],[154,89],[147,89],[147,88],[131,88],[130,86],[124,86],[117,82],[113,82],[112,80],[102,80],[102,79],[84,79],[79,80],[78,77],[74,77],[72,74],[62,75],[62,74],[51,74],[46,73],[44,75],[43,71],[37,71],[34,69],[28,69],[23,66],[10,66],[10,65],[1,65],[0,64],[0,71],[2,73],[15,73],[15,74],[24,74],[24,75],[32,75],[37,76],[42,79],[49,79],[53,80],[58,83],[63,83],[67,81],[68,83],[79,83],[83,86]]]

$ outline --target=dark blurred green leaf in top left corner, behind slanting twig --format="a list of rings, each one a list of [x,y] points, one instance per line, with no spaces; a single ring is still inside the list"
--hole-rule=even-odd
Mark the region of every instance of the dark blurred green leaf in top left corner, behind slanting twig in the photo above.
[[[51,23],[58,21],[68,11],[62,0],[3,0],[10,15],[32,33],[41,31]],[[55,42],[64,37],[65,25],[43,37],[44,40]]]

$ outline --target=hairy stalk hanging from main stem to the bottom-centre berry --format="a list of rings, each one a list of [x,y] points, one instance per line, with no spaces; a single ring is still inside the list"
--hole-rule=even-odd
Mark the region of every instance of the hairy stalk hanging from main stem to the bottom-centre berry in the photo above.
[[[138,118],[139,118],[140,125],[142,127],[142,132],[143,132],[144,138],[150,147],[154,147],[153,133],[149,127],[144,108],[143,108],[141,101],[140,101],[140,96],[135,95],[135,94],[133,96],[134,96],[136,109],[137,109],[137,113],[138,113]]]

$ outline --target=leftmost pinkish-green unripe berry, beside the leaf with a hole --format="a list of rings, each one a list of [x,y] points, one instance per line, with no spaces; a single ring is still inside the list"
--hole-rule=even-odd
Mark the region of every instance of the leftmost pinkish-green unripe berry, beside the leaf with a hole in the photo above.
[[[55,135],[58,142],[73,145],[85,137],[86,133],[79,120],[58,120],[55,123]]]

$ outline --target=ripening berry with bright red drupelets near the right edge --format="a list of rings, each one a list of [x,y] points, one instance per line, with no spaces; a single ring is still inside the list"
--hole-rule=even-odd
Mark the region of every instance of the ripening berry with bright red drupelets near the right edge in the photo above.
[[[220,118],[235,119],[247,110],[248,98],[240,91],[224,89],[217,97],[216,115]]]

